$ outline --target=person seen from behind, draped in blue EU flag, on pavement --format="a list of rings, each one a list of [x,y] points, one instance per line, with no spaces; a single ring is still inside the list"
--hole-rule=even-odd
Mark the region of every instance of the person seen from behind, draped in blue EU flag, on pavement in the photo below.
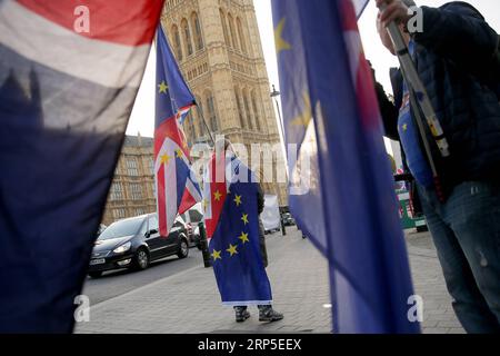
[[[228,140],[218,141],[204,175],[204,219],[222,304],[233,306],[237,322],[250,317],[247,306],[259,306],[259,320],[282,315],[271,307],[272,293],[260,251],[259,185]],[[222,149],[223,147],[223,149]]]

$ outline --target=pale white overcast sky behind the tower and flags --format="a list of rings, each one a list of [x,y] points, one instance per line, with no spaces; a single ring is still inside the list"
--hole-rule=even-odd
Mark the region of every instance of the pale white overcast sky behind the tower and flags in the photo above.
[[[302,0],[307,1],[307,0]],[[324,0],[330,1],[330,0]],[[271,0],[253,0],[256,6],[257,20],[261,34],[262,48],[268,68],[269,82],[279,88],[278,66],[274,51],[274,36],[272,26]],[[444,0],[417,0],[419,6],[439,7],[446,2]],[[500,32],[500,2],[499,0],[469,0],[486,17],[490,26]],[[389,81],[389,68],[398,66],[396,57],[391,56],[379,41],[376,30],[377,8],[374,1],[370,1],[368,8],[359,21],[361,39],[363,41],[364,53],[372,62],[377,79],[384,87],[386,91],[391,92]],[[127,128],[128,135],[137,135],[138,131],[142,136],[153,136],[154,131],[154,73],[156,59],[154,51],[148,60],[144,78],[139,89],[132,116]]]

